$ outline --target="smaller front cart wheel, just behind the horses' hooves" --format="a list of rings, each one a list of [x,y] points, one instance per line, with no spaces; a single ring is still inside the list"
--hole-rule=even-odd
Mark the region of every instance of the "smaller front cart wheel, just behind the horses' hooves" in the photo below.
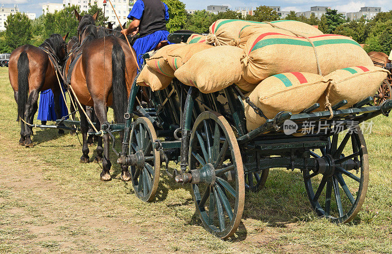
[[[144,163],[131,166],[130,172],[135,194],[145,202],[155,199],[159,183],[161,157],[153,146],[155,140],[157,137],[152,123],[146,117],[138,118],[132,127],[129,154],[143,156]]]

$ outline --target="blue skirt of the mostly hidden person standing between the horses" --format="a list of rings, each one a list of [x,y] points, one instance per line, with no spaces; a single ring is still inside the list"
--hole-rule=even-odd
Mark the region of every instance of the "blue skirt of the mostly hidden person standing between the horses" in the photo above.
[[[61,94],[60,94],[60,108],[61,108],[61,117],[68,115],[68,109],[64,102],[64,98]],[[56,111],[54,110],[53,92],[51,89],[42,91],[40,93],[40,102],[38,104],[37,119],[41,121],[57,120]]]

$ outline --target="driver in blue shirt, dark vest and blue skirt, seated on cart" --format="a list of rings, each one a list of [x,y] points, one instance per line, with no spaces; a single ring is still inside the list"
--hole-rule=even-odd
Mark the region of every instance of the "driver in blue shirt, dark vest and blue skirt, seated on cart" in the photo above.
[[[143,64],[143,54],[155,49],[161,42],[168,39],[166,22],[169,20],[168,6],[160,0],[137,0],[129,13],[132,20],[125,36],[139,33],[140,37],[133,44],[139,66]]]

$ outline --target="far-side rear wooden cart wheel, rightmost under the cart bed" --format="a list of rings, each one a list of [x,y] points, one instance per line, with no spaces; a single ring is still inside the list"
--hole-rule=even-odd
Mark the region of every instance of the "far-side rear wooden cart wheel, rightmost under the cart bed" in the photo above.
[[[321,153],[334,166],[323,174],[303,171],[310,203],[319,216],[334,223],[349,222],[360,211],[368,190],[368,149],[361,128],[357,126],[345,134],[333,135]],[[311,155],[320,157],[315,152]]]

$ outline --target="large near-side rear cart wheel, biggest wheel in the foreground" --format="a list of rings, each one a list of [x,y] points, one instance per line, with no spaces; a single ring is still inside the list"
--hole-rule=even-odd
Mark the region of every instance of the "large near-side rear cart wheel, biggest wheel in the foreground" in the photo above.
[[[212,169],[216,177],[210,184],[192,184],[196,211],[210,233],[230,237],[244,211],[244,168],[234,132],[217,112],[201,113],[192,130],[189,169],[203,166]]]

